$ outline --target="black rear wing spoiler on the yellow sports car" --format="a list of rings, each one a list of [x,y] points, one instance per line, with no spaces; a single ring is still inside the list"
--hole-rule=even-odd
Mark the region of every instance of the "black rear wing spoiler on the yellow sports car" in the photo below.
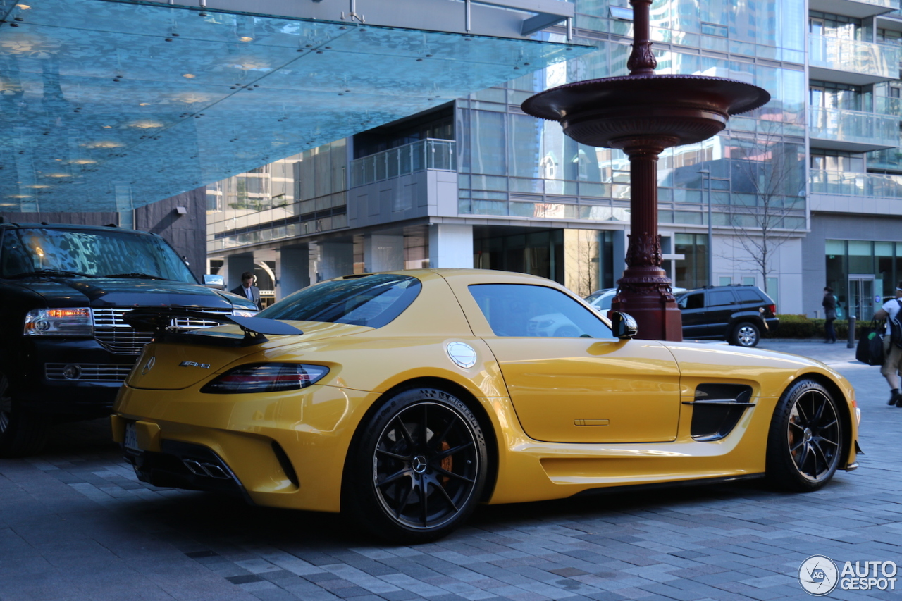
[[[241,328],[243,337],[225,332],[211,332],[201,334],[203,328],[189,332],[177,332],[170,329],[172,320],[180,317],[215,321],[220,324],[232,324]],[[207,345],[226,345],[245,347],[258,345],[267,341],[269,336],[300,336],[304,332],[276,319],[245,318],[223,313],[207,313],[201,310],[175,309],[161,307],[159,309],[141,308],[124,313],[122,319],[132,328],[141,332],[153,332],[155,340],[168,340],[173,342],[194,342]]]

